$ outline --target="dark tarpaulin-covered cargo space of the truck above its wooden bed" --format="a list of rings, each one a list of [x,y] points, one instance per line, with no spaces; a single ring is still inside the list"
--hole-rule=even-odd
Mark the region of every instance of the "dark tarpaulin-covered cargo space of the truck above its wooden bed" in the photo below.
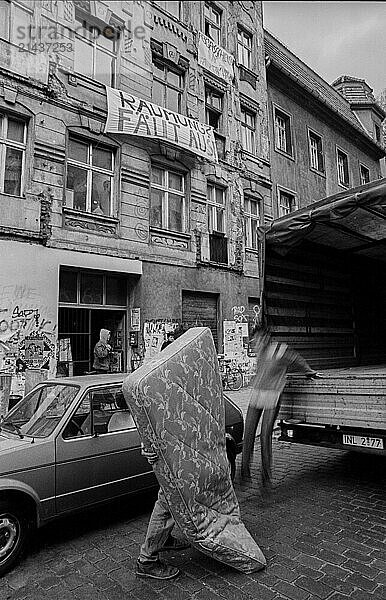
[[[315,368],[386,364],[386,179],[262,229],[263,314]]]

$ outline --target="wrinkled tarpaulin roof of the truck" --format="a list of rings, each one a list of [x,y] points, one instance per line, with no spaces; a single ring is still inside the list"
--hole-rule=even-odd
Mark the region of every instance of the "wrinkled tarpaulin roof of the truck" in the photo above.
[[[281,217],[264,233],[267,245],[283,255],[307,240],[386,262],[386,178]]]

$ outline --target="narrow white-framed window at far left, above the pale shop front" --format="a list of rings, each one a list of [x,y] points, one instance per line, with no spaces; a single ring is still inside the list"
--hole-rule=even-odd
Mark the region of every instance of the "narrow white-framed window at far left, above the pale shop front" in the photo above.
[[[0,114],[0,192],[21,196],[27,128],[24,121]]]

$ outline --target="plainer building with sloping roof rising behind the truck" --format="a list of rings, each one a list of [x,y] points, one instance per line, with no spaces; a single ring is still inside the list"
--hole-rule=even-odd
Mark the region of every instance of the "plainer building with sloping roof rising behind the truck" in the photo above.
[[[274,217],[381,177],[385,113],[371,88],[329,85],[266,31],[264,43]]]

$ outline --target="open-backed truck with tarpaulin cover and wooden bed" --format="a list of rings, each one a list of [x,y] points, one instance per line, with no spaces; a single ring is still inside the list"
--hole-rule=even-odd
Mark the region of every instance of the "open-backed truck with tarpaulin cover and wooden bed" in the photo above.
[[[386,179],[262,230],[262,314],[319,372],[289,375],[280,440],[386,454]]]

